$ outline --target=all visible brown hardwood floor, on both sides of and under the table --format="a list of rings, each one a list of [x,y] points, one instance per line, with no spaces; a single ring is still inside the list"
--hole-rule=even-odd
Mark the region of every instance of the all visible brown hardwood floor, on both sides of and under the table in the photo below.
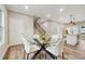
[[[85,49],[81,49],[81,47],[79,46],[80,44],[74,47],[70,44],[65,44],[65,60],[85,60]],[[42,52],[37,56],[37,60],[52,60],[49,55],[43,55]],[[30,53],[27,57],[27,53],[25,52],[23,44],[12,46],[8,49],[8,52],[5,53],[3,60],[30,60],[34,53],[36,52]]]

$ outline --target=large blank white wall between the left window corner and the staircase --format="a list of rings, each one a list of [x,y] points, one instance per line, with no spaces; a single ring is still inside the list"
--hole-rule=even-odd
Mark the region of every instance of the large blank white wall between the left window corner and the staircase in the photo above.
[[[22,35],[27,37],[33,35],[33,17],[9,11],[10,44],[23,43]]]

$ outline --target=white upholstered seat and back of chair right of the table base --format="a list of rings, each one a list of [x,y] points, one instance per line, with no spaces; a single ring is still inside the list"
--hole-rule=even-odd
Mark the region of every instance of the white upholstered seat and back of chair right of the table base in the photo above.
[[[51,43],[51,47],[48,47],[47,50],[55,55],[61,54],[63,52],[63,40],[59,39],[57,42]]]

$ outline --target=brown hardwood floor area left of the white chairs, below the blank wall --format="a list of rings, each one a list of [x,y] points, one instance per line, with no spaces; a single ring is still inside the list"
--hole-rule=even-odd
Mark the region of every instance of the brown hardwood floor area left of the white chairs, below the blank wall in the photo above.
[[[12,46],[8,49],[3,60],[24,60],[25,50],[23,44]]]

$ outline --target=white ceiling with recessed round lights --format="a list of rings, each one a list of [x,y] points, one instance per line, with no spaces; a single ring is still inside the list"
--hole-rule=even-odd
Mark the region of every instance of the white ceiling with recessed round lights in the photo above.
[[[28,4],[29,9],[25,9],[25,4],[9,4],[9,10],[28,14],[31,16],[39,16],[47,18],[47,14],[51,14],[51,18],[55,22],[69,23],[70,14],[74,15],[75,22],[85,21],[85,5],[80,4]],[[60,9],[63,9],[60,12]]]

